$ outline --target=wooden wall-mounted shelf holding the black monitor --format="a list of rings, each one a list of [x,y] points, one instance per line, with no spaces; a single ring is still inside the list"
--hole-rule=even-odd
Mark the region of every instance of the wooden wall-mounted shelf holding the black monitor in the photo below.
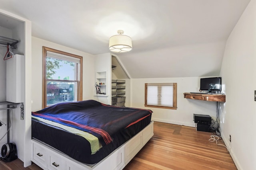
[[[184,93],[184,98],[193,100],[205,100],[210,102],[226,102],[226,95],[222,94]]]

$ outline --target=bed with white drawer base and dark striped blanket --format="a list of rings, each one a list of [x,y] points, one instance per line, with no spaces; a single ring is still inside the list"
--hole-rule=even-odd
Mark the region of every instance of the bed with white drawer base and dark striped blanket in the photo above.
[[[122,169],[153,136],[151,115],[95,100],[32,112],[32,161],[43,169]]]

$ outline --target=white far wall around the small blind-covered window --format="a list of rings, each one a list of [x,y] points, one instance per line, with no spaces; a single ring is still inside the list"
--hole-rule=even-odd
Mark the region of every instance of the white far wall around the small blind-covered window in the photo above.
[[[160,109],[154,107],[144,107],[145,83],[177,83],[177,109]],[[202,100],[191,100],[184,98],[184,92],[198,92],[200,87],[200,77],[184,78],[139,78],[131,79],[131,107],[151,109],[153,111],[152,120],[177,125],[194,127],[193,113],[210,115],[216,119],[217,102]]]

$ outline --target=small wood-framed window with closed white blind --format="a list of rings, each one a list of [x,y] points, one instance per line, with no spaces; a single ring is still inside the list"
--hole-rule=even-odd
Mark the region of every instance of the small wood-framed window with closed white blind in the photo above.
[[[145,107],[177,109],[177,83],[145,83]]]

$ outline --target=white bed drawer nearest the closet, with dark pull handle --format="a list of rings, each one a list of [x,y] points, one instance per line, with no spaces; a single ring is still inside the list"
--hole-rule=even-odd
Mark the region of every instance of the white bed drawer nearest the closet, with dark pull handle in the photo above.
[[[34,162],[38,162],[41,167],[47,168],[47,158],[47,151],[37,143],[32,143],[32,159]]]

